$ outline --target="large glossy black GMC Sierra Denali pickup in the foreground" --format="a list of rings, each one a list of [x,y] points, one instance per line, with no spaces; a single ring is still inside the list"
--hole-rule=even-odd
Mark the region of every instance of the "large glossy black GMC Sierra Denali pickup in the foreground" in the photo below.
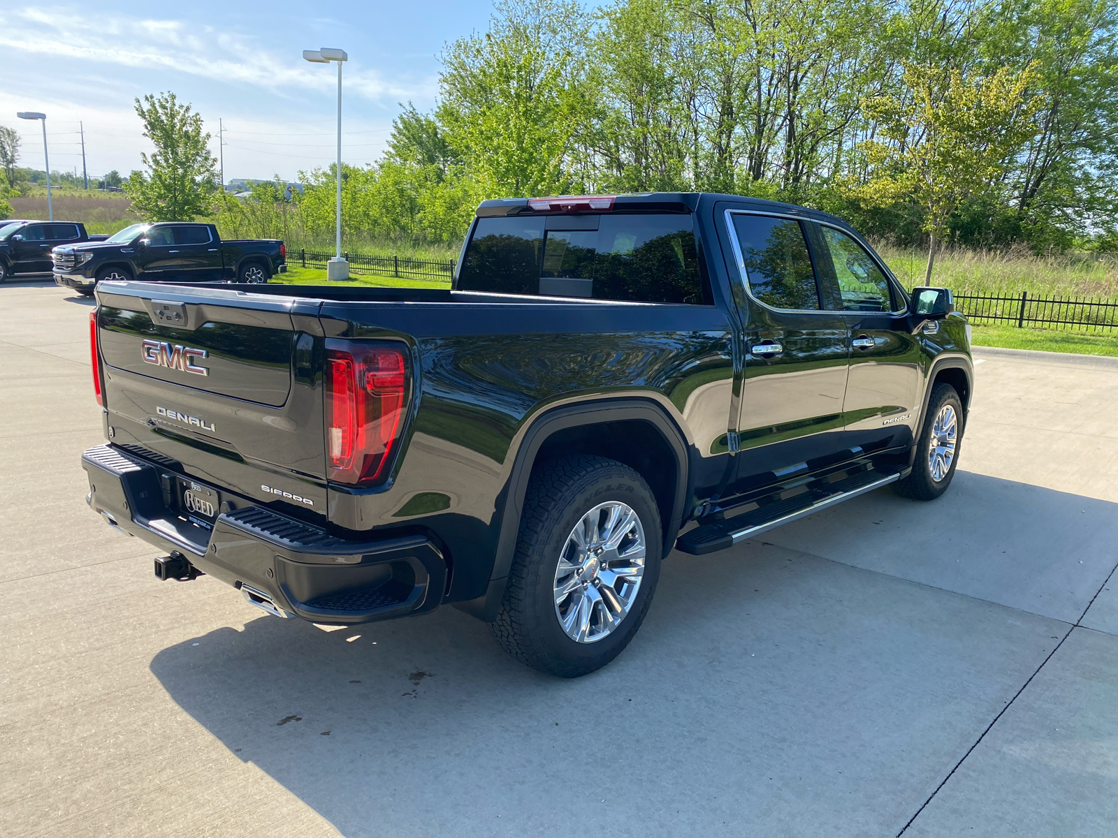
[[[282,618],[444,603],[543,672],[701,555],[951,482],[968,325],[837,218],[724,194],[485,201],[452,289],[106,282],[88,502]]]

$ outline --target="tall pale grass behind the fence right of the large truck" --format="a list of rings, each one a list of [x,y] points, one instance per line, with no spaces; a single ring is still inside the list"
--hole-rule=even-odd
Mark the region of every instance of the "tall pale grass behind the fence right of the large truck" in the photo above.
[[[926,250],[878,242],[878,253],[909,288],[923,285]],[[948,247],[936,256],[931,284],[956,294],[1029,292],[1043,297],[1118,297],[1118,255],[1067,253],[1035,256],[1024,247],[978,250]]]

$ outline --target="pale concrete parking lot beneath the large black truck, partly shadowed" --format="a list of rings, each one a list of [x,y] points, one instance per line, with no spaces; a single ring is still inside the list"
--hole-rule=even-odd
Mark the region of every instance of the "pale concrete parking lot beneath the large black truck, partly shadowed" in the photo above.
[[[978,355],[946,496],[674,553],[565,682],[155,580],[85,504],[91,305],[0,287],[0,834],[1118,831],[1118,364]]]

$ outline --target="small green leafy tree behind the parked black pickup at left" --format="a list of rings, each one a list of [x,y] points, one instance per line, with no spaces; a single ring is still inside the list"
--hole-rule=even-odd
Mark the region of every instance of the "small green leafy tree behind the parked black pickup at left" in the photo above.
[[[146,172],[129,177],[125,190],[133,209],[148,221],[192,221],[207,215],[218,175],[202,117],[180,105],[173,93],[148,94],[143,102],[135,99],[135,109],[155,151],[140,155]]]

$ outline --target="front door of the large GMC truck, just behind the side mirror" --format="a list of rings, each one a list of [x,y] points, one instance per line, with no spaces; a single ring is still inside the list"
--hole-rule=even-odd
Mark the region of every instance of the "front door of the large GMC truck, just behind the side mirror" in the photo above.
[[[843,312],[851,333],[843,400],[847,444],[908,445],[919,419],[923,365],[904,298],[872,253],[849,231],[825,223],[815,229],[823,298],[828,308]]]

